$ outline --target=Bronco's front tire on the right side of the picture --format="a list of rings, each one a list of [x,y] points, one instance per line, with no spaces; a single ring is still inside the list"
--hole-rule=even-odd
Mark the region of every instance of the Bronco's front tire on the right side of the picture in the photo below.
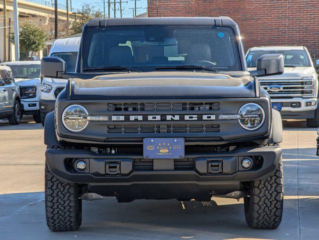
[[[274,229],[281,222],[283,209],[282,160],[264,180],[250,181],[244,198],[246,222],[251,228]]]

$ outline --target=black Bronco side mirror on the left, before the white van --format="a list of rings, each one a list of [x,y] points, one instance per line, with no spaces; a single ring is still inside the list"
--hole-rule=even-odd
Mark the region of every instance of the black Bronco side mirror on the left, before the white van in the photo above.
[[[66,71],[66,62],[57,56],[44,56],[41,59],[41,76],[57,78],[59,72]]]

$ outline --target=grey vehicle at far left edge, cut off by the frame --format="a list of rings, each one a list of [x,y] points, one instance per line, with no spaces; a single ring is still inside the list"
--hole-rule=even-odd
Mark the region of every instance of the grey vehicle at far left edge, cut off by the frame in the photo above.
[[[0,118],[7,117],[11,125],[19,124],[22,117],[19,92],[10,67],[0,65]]]

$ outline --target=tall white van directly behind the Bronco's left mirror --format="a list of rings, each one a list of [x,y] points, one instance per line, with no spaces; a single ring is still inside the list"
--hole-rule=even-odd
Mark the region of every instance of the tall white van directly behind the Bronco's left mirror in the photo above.
[[[60,57],[66,62],[68,71],[75,71],[81,37],[68,37],[57,39],[53,42],[49,56]],[[41,123],[48,112],[54,110],[58,94],[65,88],[67,79],[55,77],[43,77],[40,97]]]

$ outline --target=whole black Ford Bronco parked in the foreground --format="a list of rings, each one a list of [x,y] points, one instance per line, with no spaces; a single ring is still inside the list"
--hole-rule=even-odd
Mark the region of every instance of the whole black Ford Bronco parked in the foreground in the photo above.
[[[244,198],[252,228],[276,228],[283,207],[281,118],[247,71],[228,17],[92,19],[76,72],[44,57],[43,77],[67,78],[45,120],[47,224],[76,230],[82,200]]]

